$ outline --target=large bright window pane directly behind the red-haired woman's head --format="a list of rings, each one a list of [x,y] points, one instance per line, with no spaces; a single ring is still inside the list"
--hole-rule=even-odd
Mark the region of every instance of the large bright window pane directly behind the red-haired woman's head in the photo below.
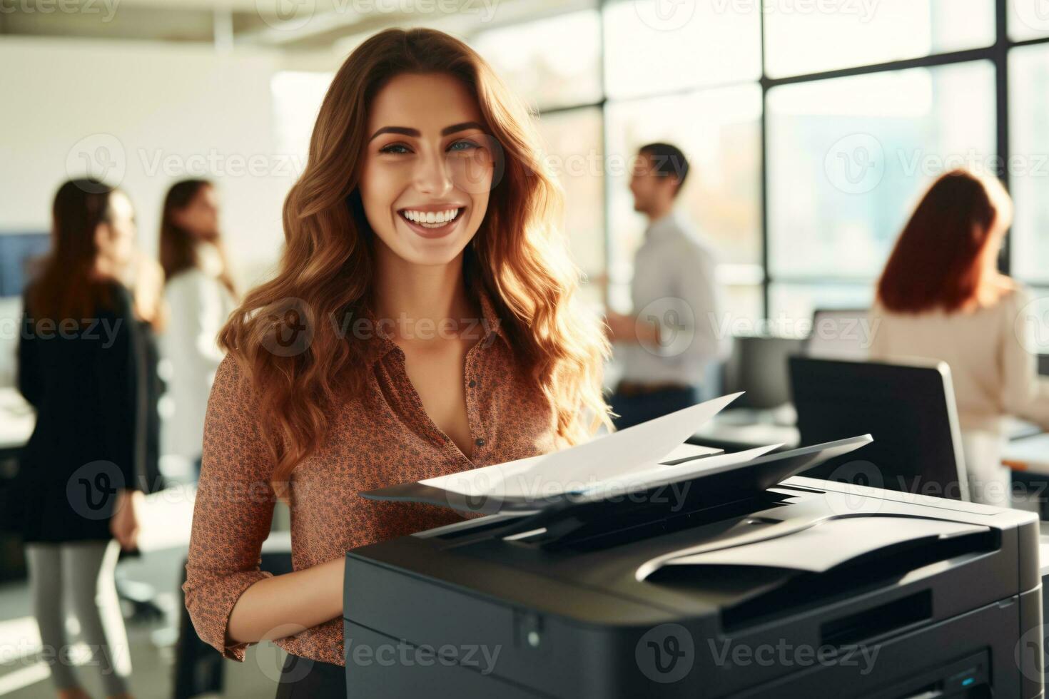
[[[993,165],[994,66],[776,87],[768,137],[773,278],[872,279],[933,179]]]

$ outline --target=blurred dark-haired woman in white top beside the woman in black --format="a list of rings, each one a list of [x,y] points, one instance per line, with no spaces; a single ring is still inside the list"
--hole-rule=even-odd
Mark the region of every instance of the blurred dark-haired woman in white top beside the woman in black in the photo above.
[[[210,181],[187,179],[168,190],[160,219],[160,264],[171,313],[162,346],[174,408],[167,420],[168,452],[189,459],[199,473],[208,395],[224,356],[216,336],[236,301],[218,230],[218,198]]]

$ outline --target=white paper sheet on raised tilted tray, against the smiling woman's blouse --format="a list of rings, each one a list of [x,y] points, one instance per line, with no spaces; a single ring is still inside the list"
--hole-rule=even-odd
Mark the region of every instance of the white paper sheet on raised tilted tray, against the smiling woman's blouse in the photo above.
[[[549,498],[652,468],[742,393],[713,398],[552,454],[497,463],[420,483],[459,495]],[[704,457],[700,461],[710,458]],[[682,464],[683,465],[683,464]]]

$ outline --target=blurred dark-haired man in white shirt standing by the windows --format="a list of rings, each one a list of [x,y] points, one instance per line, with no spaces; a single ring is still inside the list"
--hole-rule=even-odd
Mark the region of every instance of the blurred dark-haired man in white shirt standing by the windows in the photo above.
[[[609,401],[617,429],[700,402],[710,365],[731,347],[719,334],[726,326],[714,252],[676,206],[687,176],[688,160],[669,144],[644,146],[634,161],[634,209],[648,227],[634,260],[634,310],[606,314],[623,369]]]

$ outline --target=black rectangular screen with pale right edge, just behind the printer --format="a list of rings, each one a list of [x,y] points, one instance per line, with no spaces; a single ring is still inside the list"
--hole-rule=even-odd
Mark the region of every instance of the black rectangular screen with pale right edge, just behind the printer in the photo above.
[[[864,433],[874,437],[873,443],[805,475],[969,499],[946,363],[792,356],[789,366],[802,445]]]

